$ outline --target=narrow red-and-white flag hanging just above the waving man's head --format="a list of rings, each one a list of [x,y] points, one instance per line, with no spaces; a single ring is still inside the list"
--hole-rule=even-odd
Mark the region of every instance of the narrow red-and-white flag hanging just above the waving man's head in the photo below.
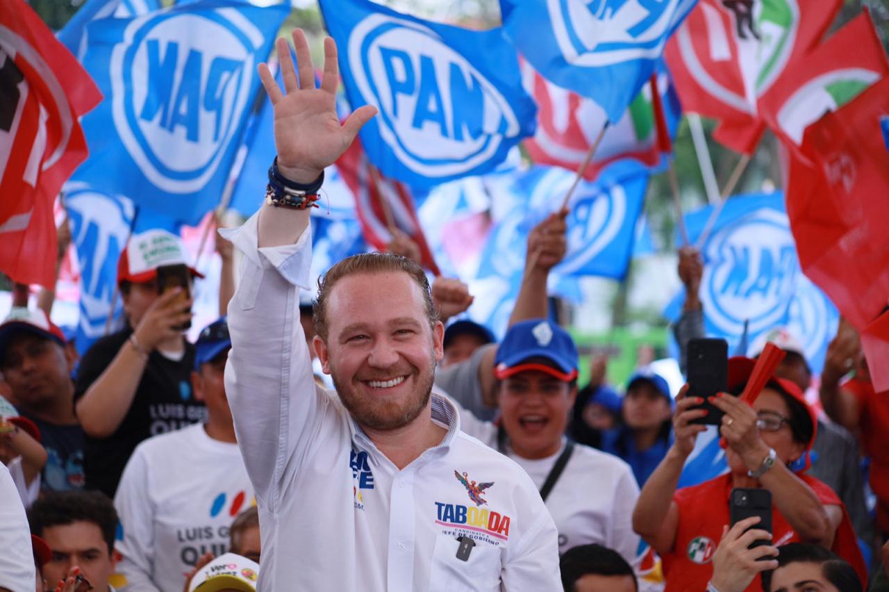
[[[364,240],[377,249],[385,249],[392,241],[389,221],[420,247],[420,263],[440,276],[432,250],[417,218],[411,190],[404,183],[390,180],[372,171],[361,141],[356,138],[337,161],[343,180],[355,196],[355,210]],[[383,205],[385,200],[386,206]],[[388,206],[388,208],[387,208]],[[387,212],[388,209],[388,212]]]

